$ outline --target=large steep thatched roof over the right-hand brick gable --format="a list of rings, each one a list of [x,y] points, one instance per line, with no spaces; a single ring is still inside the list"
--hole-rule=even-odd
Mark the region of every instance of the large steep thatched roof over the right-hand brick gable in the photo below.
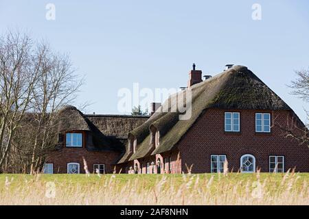
[[[291,110],[273,90],[245,66],[233,66],[211,79],[196,83],[190,89],[192,91],[190,119],[179,120],[178,112],[160,112],[164,107],[170,109],[170,103],[176,103],[173,101],[176,99],[176,94],[170,96],[144,125],[130,132],[137,138],[137,151],[133,155],[126,153],[118,163],[170,151],[208,108]],[[152,126],[160,132],[159,146],[154,151],[150,145],[150,127]]]

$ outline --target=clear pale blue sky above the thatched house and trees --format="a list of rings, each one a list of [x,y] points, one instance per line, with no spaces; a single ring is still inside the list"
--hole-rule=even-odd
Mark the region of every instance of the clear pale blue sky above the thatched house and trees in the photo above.
[[[47,3],[56,19],[47,21]],[[260,21],[251,17],[262,6]],[[216,75],[225,64],[253,71],[305,120],[290,94],[294,70],[309,67],[309,1],[3,1],[0,32],[22,28],[70,54],[86,83],[87,112],[119,114],[117,91],[186,86],[192,62]]]

